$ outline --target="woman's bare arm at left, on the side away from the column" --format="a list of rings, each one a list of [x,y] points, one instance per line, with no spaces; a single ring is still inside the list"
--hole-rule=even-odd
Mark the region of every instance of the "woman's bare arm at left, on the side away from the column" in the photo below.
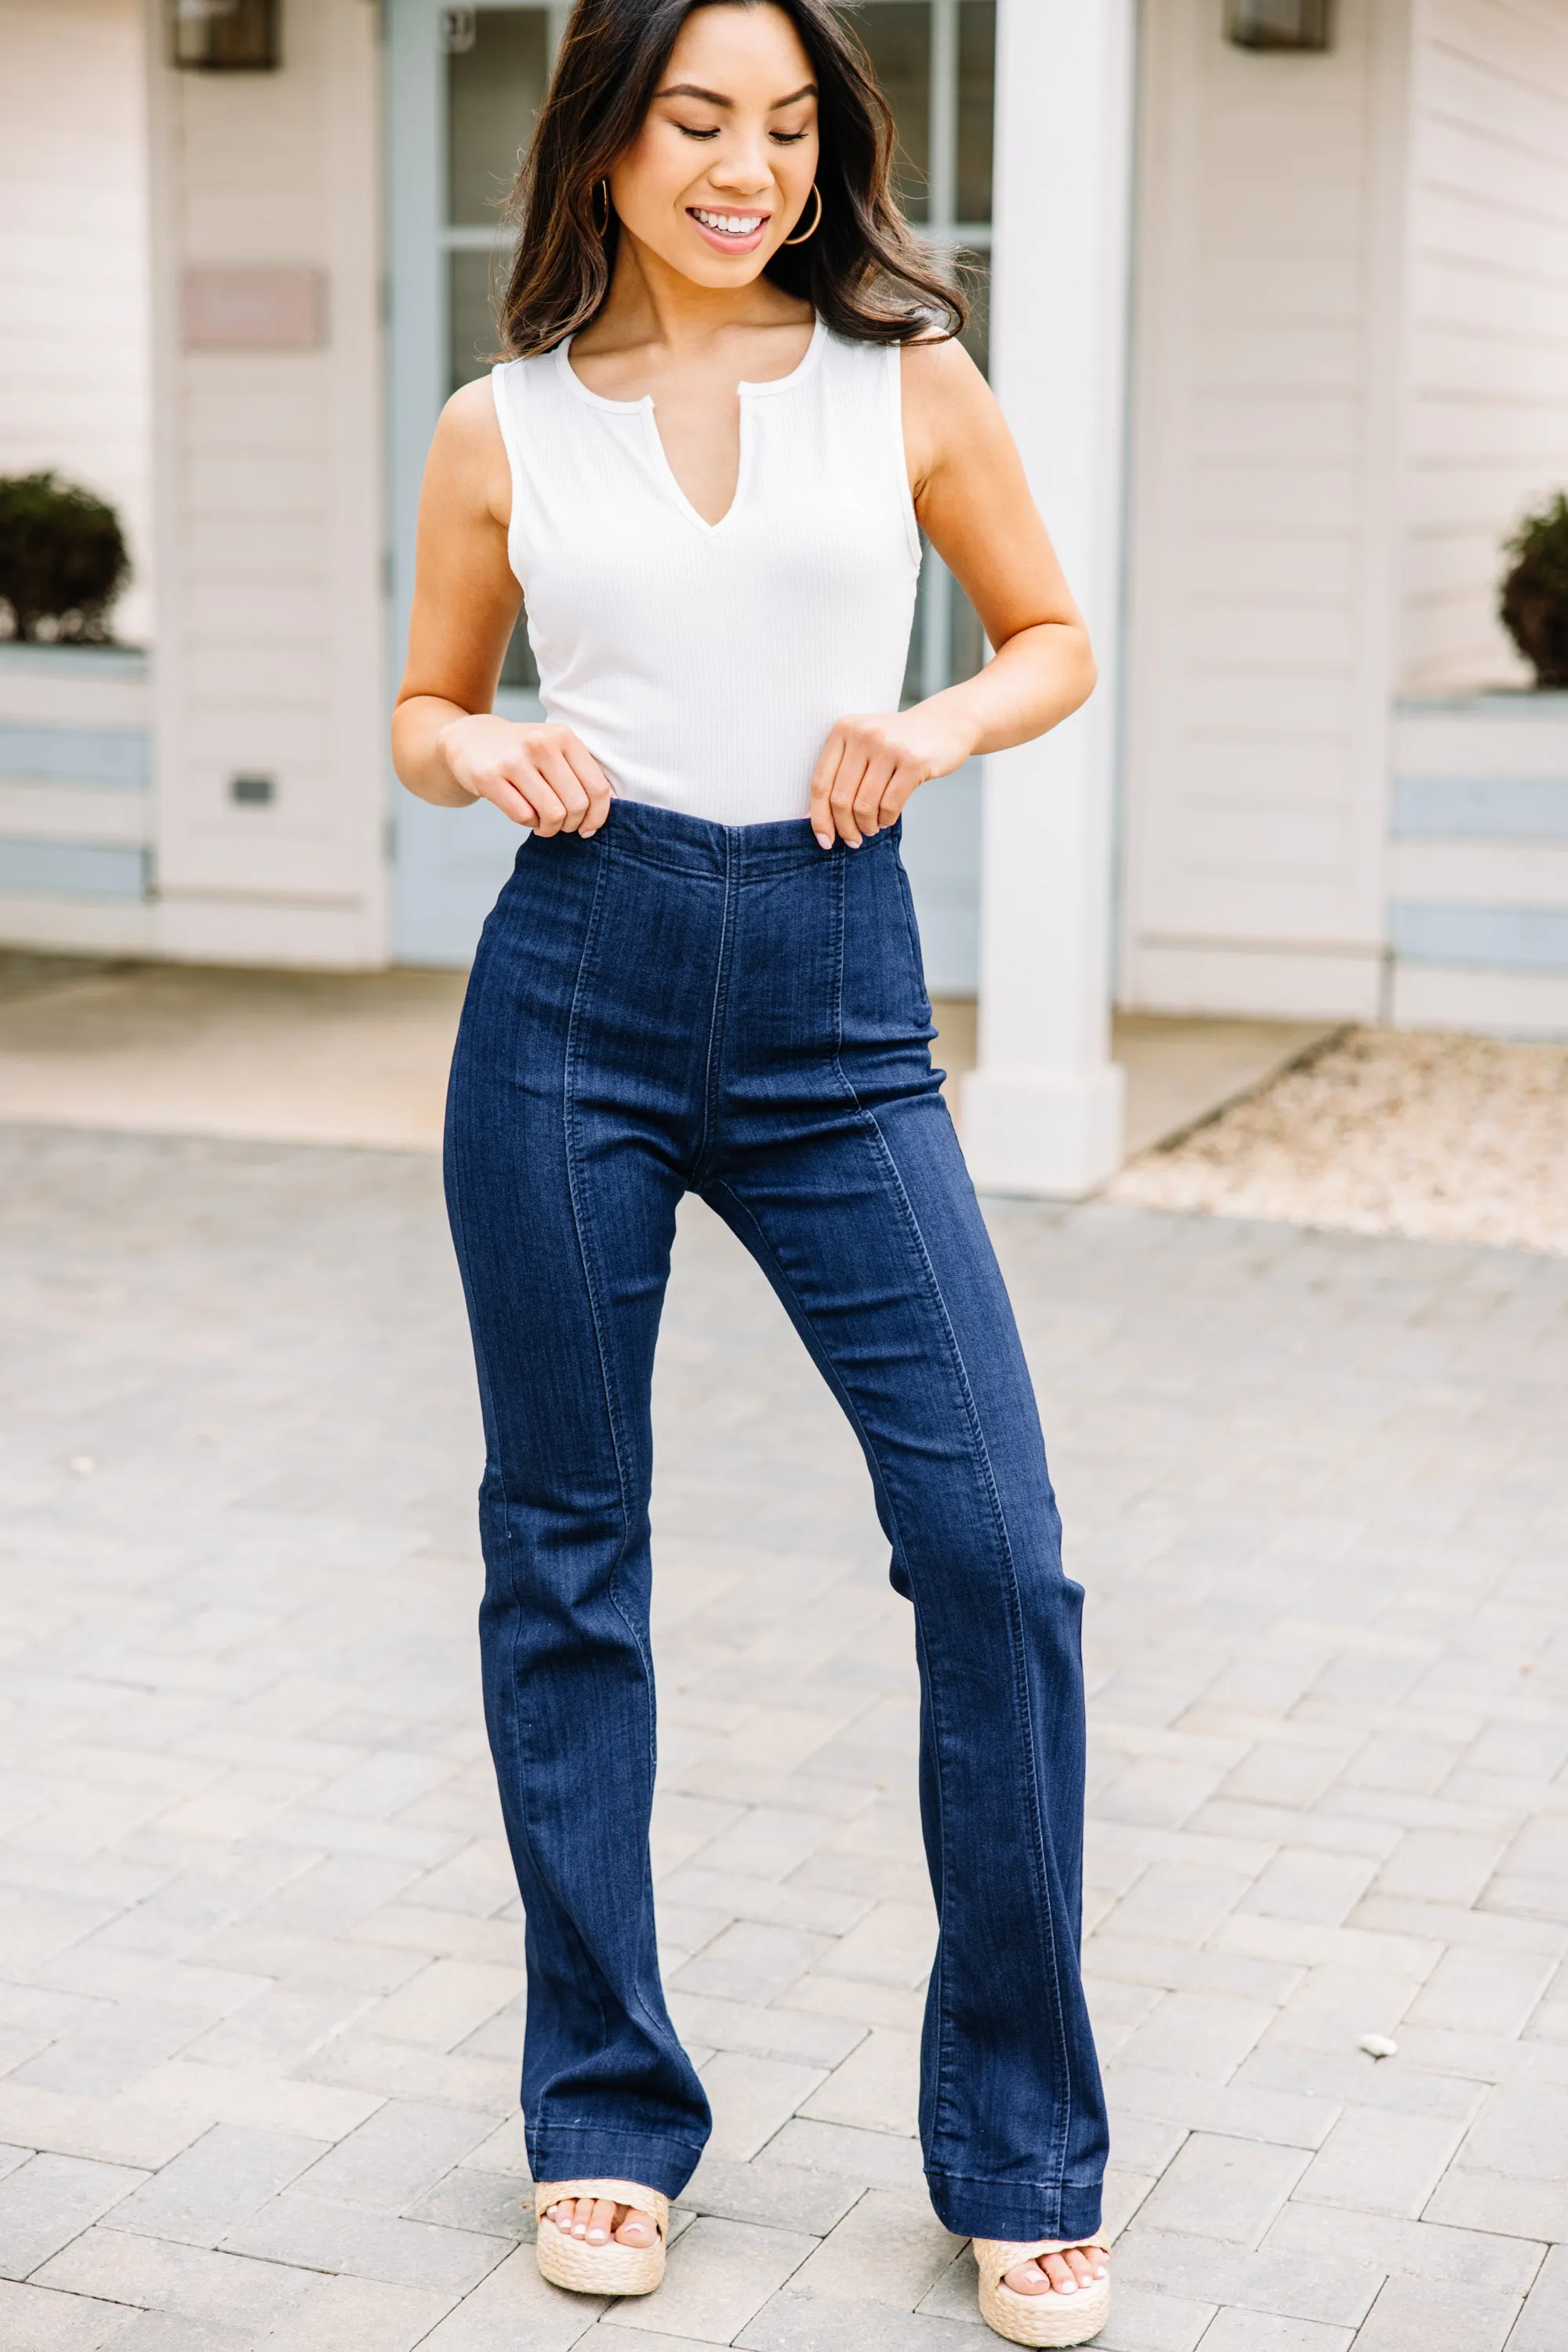
[[[444,809],[491,800],[515,826],[597,833],[609,783],[569,727],[491,713],[522,602],[505,557],[512,485],[489,383],[454,393],[418,501],[409,666],[393,710],[393,764]]]

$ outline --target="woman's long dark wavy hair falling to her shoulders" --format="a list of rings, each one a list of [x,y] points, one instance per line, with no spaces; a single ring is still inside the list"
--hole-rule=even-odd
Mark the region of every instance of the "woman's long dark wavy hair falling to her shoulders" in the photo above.
[[[686,16],[710,5],[576,0],[505,207],[517,230],[501,299],[508,358],[550,350],[604,301],[621,223],[604,219],[599,181],[642,129]],[[823,223],[806,245],[776,252],[766,275],[860,343],[961,334],[964,294],[922,254],[898,209],[893,115],[865,49],[830,0],[771,5],[799,33],[818,85]]]

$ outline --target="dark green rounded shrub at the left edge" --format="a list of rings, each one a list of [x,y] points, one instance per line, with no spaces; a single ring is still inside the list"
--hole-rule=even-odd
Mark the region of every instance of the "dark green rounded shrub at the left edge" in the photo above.
[[[54,473],[0,475],[0,602],[28,644],[108,644],[129,579],[113,506]]]

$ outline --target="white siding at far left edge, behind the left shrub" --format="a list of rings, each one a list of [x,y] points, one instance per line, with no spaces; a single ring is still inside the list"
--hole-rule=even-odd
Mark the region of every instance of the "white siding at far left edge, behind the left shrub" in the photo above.
[[[108,499],[150,600],[146,89],[139,0],[0,0],[0,473]]]

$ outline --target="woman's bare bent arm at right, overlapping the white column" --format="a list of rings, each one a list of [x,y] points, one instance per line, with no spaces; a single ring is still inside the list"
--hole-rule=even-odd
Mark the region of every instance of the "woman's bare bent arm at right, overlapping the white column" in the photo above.
[[[858,844],[976,753],[1027,743],[1093,691],[1084,616],[1030,496],[997,400],[959,343],[903,353],[914,510],[980,616],[992,661],[903,713],[839,720],[811,779],[820,842]]]

